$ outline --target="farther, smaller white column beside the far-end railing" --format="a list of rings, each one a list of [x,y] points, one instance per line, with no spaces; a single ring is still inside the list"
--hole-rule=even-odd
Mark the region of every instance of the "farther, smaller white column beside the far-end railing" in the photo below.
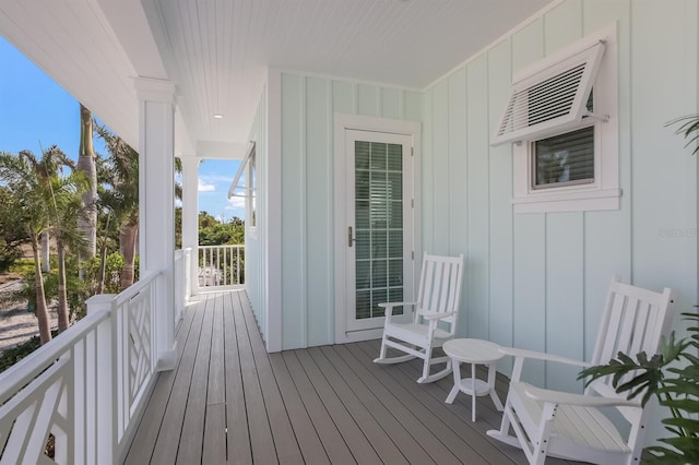
[[[196,156],[182,160],[182,249],[191,248],[190,285],[199,294],[199,162]]]

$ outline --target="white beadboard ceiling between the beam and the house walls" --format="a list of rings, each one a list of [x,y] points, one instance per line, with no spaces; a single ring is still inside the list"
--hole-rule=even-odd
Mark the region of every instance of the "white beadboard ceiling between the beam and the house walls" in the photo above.
[[[424,88],[549,2],[143,0],[190,135],[225,142],[247,138],[266,67]]]

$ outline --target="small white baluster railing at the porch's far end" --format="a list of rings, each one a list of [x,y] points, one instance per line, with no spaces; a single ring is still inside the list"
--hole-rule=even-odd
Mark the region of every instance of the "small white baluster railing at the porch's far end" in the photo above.
[[[245,246],[199,246],[199,287],[245,284]]]

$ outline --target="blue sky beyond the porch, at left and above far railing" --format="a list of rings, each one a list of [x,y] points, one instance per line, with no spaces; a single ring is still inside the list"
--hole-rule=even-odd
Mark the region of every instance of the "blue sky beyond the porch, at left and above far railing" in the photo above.
[[[0,151],[16,154],[58,145],[76,158],[80,104],[38,67],[0,37]],[[95,151],[105,154],[95,139]],[[245,217],[241,198],[226,199],[239,162],[204,160],[199,168],[199,210],[229,220]]]

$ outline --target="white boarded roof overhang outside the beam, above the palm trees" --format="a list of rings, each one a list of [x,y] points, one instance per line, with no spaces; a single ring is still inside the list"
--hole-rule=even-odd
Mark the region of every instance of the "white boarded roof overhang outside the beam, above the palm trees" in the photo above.
[[[93,2],[3,1],[0,33],[121,138],[138,143],[134,71]]]

